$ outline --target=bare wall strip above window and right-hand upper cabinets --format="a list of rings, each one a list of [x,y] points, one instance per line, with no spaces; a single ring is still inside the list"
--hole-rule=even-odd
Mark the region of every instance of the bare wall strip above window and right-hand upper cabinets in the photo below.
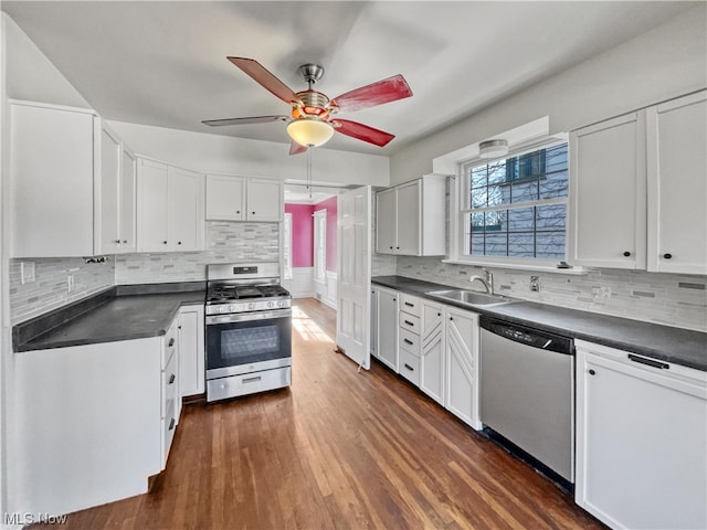
[[[550,134],[557,134],[704,88],[706,43],[703,4],[395,151],[391,184],[432,172],[433,158],[542,116],[550,117]]]

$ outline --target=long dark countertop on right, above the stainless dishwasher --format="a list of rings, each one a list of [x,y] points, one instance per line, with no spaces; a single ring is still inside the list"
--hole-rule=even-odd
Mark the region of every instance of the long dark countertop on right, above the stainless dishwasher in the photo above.
[[[372,283],[437,303],[469,309],[463,304],[452,300],[443,301],[440,298],[425,295],[431,290],[454,288],[446,285],[402,276],[374,276]],[[481,306],[469,310],[498,317],[508,322],[544,329],[707,371],[707,333],[700,331],[525,300],[490,307]]]

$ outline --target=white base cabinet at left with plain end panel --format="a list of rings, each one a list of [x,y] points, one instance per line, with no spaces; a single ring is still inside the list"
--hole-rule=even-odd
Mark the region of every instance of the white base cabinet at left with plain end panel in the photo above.
[[[146,339],[13,356],[9,499],[61,515],[148,489],[179,422],[177,320]]]

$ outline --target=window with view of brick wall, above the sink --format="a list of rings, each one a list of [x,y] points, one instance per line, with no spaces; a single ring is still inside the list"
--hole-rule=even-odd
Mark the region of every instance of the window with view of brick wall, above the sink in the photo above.
[[[564,259],[567,142],[462,170],[460,257]]]

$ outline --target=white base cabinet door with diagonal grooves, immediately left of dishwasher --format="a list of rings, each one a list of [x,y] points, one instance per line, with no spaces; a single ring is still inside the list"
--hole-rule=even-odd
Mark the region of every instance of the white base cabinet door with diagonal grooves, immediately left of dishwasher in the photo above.
[[[478,316],[447,307],[445,324],[446,409],[478,430]]]

